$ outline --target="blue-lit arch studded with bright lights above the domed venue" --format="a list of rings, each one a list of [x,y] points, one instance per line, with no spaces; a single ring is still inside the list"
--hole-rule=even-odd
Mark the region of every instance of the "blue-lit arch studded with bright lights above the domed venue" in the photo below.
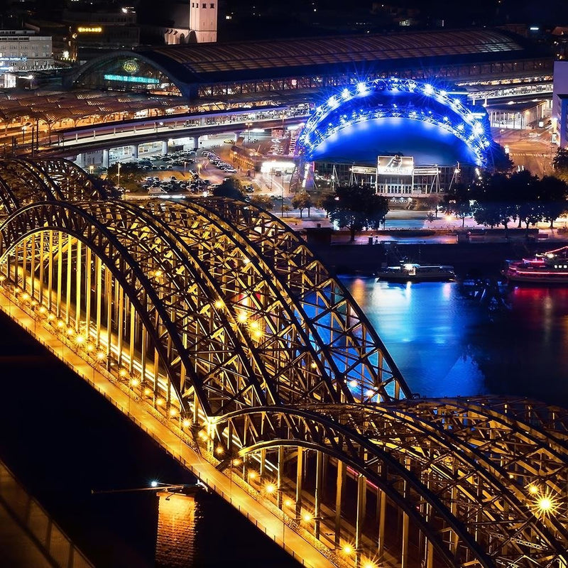
[[[455,94],[429,82],[398,77],[361,81],[332,94],[307,120],[298,137],[296,153],[311,160],[317,147],[340,130],[385,119],[436,126],[468,149],[469,157],[464,155],[459,161],[487,165],[491,140],[481,114],[467,108]]]

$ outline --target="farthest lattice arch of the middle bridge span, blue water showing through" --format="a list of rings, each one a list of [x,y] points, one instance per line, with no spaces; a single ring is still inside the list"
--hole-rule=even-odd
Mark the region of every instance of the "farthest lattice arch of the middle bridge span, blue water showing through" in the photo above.
[[[358,383],[358,398],[363,393],[362,399],[366,400],[368,388],[376,388],[381,383],[386,386],[389,382],[394,383],[395,395],[386,395],[385,400],[399,398],[399,389],[402,389],[401,395],[410,394],[400,378],[400,371],[359,306],[341,283],[327,273],[305,241],[282,220],[261,209],[231,200],[205,202],[208,208],[220,212],[239,232],[246,234],[259,256],[271,266],[275,278],[285,283],[290,296],[303,308],[305,317],[327,344],[328,354],[342,359],[340,372],[348,381],[354,379]]]

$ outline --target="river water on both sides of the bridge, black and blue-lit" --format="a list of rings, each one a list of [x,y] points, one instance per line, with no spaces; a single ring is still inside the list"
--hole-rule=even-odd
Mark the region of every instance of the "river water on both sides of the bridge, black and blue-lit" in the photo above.
[[[526,395],[568,406],[568,289],[510,288],[505,307],[490,309],[458,283],[342,280],[413,392]],[[190,476],[3,315],[0,372],[0,458],[97,567],[151,568],[155,496],[91,490]],[[198,513],[196,567],[297,567],[216,496],[204,497]]]

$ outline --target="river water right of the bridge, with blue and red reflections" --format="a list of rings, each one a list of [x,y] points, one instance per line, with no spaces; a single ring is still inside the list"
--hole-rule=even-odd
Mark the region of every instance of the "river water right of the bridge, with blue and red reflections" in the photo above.
[[[568,406],[568,289],[511,288],[489,312],[458,283],[342,277],[411,390],[523,395]]]

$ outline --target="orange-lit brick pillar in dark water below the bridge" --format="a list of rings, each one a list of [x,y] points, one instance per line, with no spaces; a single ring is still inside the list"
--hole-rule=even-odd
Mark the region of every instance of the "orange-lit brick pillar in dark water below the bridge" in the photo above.
[[[158,493],[156,568],[187,568],[194,565],[195,499],[181,493]]]

